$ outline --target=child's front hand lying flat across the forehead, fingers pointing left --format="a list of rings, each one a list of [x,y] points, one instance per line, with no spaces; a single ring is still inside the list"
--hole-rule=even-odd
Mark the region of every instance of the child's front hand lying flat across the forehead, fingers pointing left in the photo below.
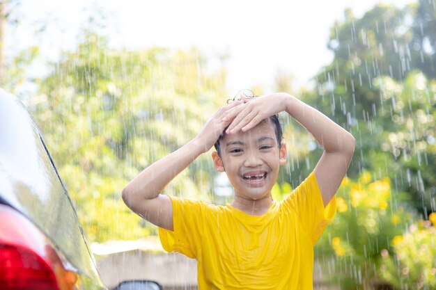
[[[286,93],[276,93],[254,98],[242,98],[244,104],[232,108],[224,116],[223,121],[235,118],[228,128],[226,134],[232,134],[239,130],[248,131],[256,125],[281,111],[286,110]]]

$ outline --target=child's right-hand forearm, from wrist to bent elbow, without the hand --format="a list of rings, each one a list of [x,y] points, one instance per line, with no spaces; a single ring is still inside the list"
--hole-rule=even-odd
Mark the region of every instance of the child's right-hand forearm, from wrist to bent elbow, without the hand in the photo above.
[[[354,151],[354,137],[341,126],[327,118],[326,115],[300,101],[283,94],[286,112],[297,120],[327,153],[345,153],[352,155]]]

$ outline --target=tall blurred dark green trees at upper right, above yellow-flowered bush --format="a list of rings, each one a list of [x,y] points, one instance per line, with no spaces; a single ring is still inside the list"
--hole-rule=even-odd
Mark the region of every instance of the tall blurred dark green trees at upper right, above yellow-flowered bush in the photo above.
[[[428,1],[380,4],[361,18],[346,10],[331,29],[332,63],[316,76],[316,90],[303,92],[355,136],[348,175],[389,177],[423,216],[436,210],[435,10]]]

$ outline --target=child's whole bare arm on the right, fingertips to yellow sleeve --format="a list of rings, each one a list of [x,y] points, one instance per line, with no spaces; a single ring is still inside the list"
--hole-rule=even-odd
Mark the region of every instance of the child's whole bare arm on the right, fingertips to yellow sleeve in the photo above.
[[[355,138],[316,108],[284,92],[244,101],[243,105],[226,114],[224,120],[234,118],[226,132],[231,134],[238,130],[247,131],[270,115],[286,111],[324,148],[324,154],[316,165],[315,175],[322,200],[327,205],[341,185],[350,165],[355,150]]]

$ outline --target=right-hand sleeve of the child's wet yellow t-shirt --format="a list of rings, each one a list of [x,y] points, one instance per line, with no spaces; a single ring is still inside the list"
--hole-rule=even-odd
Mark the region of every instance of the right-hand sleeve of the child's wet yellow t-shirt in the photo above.
[[[298,223],[309,234],[313,245],[336,214],[336,196],[324,207],[315,171],[312,171],[284,202],[297,214]]]

